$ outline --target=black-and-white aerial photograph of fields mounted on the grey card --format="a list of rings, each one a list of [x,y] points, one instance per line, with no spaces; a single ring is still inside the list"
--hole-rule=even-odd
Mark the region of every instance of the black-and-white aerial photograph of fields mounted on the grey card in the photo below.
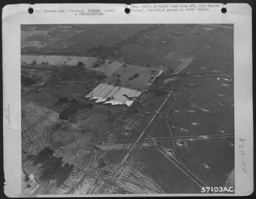
[[[20,26],[22,195],[234,193],[233,24]]]

